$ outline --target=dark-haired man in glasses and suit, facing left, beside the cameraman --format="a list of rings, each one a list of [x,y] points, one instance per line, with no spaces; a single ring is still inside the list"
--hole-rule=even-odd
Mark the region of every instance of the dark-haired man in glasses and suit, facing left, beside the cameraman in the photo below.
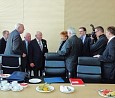
[[[83,43],[83,50],[82,50],[82,56],[90,56],[90,42],[91,38],[86,35],[86,28],[85,27],[80,27],[79,28],[79,34],[80,38]]]

